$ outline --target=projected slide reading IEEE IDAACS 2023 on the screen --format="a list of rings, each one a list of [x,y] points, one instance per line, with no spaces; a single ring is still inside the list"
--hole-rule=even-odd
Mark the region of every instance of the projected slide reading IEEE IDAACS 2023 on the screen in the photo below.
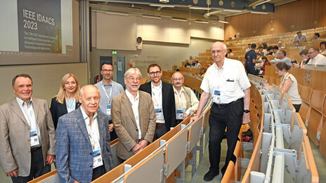
[[[0,13],[0,54],[70,54],[72,0],[1,0]]]

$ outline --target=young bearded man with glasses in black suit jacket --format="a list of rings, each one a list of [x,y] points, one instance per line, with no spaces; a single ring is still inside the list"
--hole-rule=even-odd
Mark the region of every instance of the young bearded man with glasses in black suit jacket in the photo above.
[[[141,85],[143,90],[152,96],[156,114],[155,140],[167,133],[176,123],[176,105],[174,90],[169,83],[161,81],[162,69],[157,64],[148,66],[147,74],[150,82]]]

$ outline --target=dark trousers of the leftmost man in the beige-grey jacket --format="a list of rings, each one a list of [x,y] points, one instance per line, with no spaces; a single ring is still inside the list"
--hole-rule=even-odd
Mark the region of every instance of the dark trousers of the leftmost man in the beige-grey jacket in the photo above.
[[[30,168],[30,175],[27,177],[11,177],[13,180],[13,183],[22,183],[22,182],[29,182],[33,178],[37,178],[41,175],[46,174],[47,172],[50,172],[51,165],[45,165],[43,161],[43,155],[42,155],[42,148],[39,147],[39,149],[31,150],[31,168]],[[19,168],[18,168],[19,171]]]

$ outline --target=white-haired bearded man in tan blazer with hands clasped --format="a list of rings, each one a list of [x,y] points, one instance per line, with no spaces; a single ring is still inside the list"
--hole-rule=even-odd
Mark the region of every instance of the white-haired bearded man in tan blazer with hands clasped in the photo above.
[[[126,90],[113,98],[111,113],[119,139],[117,156],[122,162],[152,142],[156,126],[152,97],[138,90],[141,84],[139,69],[128,69],[124,83]]]

